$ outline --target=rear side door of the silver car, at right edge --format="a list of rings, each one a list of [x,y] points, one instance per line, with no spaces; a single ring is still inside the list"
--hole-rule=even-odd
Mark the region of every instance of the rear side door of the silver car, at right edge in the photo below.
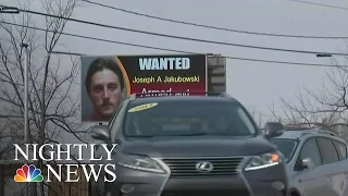
[[[344,196],[346,186],[344,168],[348,167],[339,160],[339,155],[331,137],[318,137],[316,142],[323,160],[320,172],[326,180],[324,192],[331,196]]]

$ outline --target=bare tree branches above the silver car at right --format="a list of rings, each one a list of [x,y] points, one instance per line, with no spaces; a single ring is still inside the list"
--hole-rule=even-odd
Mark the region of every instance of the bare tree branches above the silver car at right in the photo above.
[[[337,64],[337,61],[334,62]],[[295,100],[281,98],[282,113],[286,124],[302,127],[323,127],[332,130],[335,125],[347,124],[348,69],[333,65],[325,74],[318,90],[303,87]],[[279,114],[274,108],[274,115]]]

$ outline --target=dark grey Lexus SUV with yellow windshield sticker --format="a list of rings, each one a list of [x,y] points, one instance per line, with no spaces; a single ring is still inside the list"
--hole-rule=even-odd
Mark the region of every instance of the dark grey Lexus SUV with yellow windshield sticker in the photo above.
[[[94,186],[103,196],[285,196],[283,155],[245,107],[224,94],[130,96],[109,125],[91,128],[95,139],[117,144],[115,182]],[[104,173],[105,174],[105,173]]]

